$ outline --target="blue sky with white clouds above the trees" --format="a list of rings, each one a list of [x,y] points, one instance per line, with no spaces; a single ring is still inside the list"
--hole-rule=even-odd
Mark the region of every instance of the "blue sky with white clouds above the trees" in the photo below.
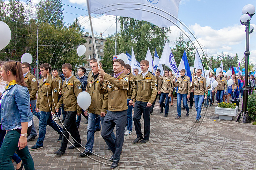
[[[39,0],[34,0],[38,3]],[[72,23],[75,18],[85,28],[85,32],[91,32],[88,20],[86,0],[62,0],[64,4],[64,22]],[[245,52],[245,26],[240,24],[242,8],[246,4],[256,6],[255,0],[181,0],[179,4],[178,18],[195,34],[208,56],[216,57],[223,53],[235,56],[240,60]],[[70,7],[70,6],[73,7]],[[74,8],[77,7],[77,8]],[[80,8],[80,9],[78,9]],[[103,32],[104,36],[114,35],[115,16],[92,14],[94,34]],[[177,23],[180,25],[180,23]],[[251,19],[251,25],[256,28],[256,15]],[[182,26],[183,27],[183,26]],[[119,30],[120,24],[117,25]],[[183,27],[184,28],[184,27]],[[176,39],[182,33],[177,26],[171,26],[169,46],[174,47]],[[188,30],[185,30],[188,32]],[[249,61],[256,63],[256,31],[250,34]],[[189,40],[184,36],[185,40]],[[195,39],[192,38],[194,41]],[[153,49],[151,49],[152,51]]]

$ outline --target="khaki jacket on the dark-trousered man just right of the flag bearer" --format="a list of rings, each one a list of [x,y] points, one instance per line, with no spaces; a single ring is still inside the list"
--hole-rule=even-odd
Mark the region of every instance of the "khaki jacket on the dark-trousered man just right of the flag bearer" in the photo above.
[[[133,103],[138,100],[152,104],[158,91],[157,80],[155,76],[148,72],[147,75],[143,78],[142,74],[139,74],[137,75],[135,82],[134,91],[132,93]]]

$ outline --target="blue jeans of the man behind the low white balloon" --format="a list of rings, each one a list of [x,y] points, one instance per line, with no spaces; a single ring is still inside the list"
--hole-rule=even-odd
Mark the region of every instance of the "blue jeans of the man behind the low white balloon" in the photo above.
[[[101,117],[101,115],[89,113],[88,125],[87,125],[87,142],[85,147],[91,152],[93,151],[94,130],[95,130],[96,121],[99,119],[100,122],[103,124],[104,118],[105,117]],[[103,129],[103,125],[102,125],[102,129]],[[114,141],[116,141],[116,136],[113,131],[111,133],[111,137],[114,139]]]

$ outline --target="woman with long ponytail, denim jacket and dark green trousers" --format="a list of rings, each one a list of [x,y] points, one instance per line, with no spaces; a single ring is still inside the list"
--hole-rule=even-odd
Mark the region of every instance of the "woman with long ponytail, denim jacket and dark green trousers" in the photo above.
[[[9,84],[0,97],[0,122],[2,130],[7,131],[0,148],[0,169],[14,170],[11,157],[17,152],[25,169],[34,170],[34,161],[28,151],[26,138],[31,131],[33,115],[21,63],[4,62],[1,76]]]

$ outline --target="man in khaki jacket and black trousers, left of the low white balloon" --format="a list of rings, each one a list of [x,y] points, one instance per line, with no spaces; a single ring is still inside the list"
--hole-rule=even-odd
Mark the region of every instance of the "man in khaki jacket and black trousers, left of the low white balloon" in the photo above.
[[[63,136],[61,141],[61,147],[55,152],[56,155],[63,155],[68,145],[69,132],[74,138],[75,144],[68,148],[74,149],[75,147],[81,147],[81,138],[76,126],[76,115],[82,113],[82,109],[77,104],[77,96],[82,92],[81,83],[72,75],[72,65],[65,63],[62,65],[62,72],[66,77],[63,82],[61,90],[61,98],[56,106],[56,111],[59,111],[62,103],[64,104],[64,110],[66,111],[66,117],[63,123]]]

